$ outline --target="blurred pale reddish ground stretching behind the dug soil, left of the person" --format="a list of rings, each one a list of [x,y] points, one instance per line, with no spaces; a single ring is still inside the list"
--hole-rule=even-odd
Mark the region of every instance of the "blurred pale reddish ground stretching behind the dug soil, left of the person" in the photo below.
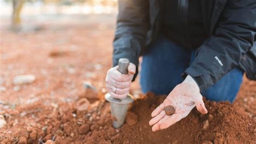
[[[1,25],[0,99],[11,104],[37,100],[74,99],[83,81],[105,91],[105,73],[111,67],[116,15],[49,18],[45,23],[23,24],[15,33]],[[36,29],[36,30],[33,30]],[[51,56],[53,53],[62,53]],[[15,76],[33,74],[30,85],[12,84]]]

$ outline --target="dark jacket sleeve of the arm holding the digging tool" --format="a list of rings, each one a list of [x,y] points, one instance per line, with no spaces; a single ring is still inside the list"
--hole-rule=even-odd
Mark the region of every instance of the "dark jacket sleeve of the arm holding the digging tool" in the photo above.
[[[147,0],[119,0],[117,28],[113,42],[113,66],[120,58],[127,58],[136,65],[146,43],[149,29],[149,3]]]

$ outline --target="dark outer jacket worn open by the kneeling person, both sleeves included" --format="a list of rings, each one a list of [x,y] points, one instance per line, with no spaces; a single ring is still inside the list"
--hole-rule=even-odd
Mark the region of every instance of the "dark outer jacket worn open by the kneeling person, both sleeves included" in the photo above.
[[[189,0],[179,0],[180,24],[187,29]],[[161,25],[161,0],[119,0],[113,65],[128,58],[138,67],[138,58],[156,40]],[[234,67],[256,79],[255,0],[201,0],[207,40],[196,50],[196,59],[185,72],[192,76],[200,91],[215,84]],[[256,46],[253,47],[256,49]],[[249,51],[250,50],[250,51]],[[242,59],[243,58],[243,59]],[[138,68],[137,68],[138,70]]]

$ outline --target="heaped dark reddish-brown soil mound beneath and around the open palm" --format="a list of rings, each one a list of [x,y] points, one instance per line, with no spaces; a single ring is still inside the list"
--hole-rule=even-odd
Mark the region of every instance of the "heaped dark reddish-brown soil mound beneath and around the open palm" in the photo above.
[[[134,126],[124,125],[122,140],[127,143],[250,143],[255,142],[255,122],[245,116],[239,107],[229,102],[206,101],[208,114],[200,114],[196,108],[183,120],[159,132],[151,132],[148,122],[156,107],[156,97],[148,94],[134,103],[132,112],[139,115]],[[159,101],[161,102],[161,101]],[[208,121],[208,122],[206,122]],[[206,124],[208,123],[208,125]],[[204,128],[205,127],[205,128]]]

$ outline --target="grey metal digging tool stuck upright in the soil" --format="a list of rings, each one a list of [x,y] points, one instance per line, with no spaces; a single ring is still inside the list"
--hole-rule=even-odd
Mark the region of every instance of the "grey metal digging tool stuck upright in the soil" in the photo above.
[[[130,61],[126,58],[119,59],[118,61],[118,71],[122,74],[127,74],[127,67],[130,64]],[[131,102],[133,102],[133,99],[130,95],[127,95],[123,99],[116,99],[111,97],[109,93],[105,95],[105,99],[110,102],[111,106],[111,114],[114,118],[113,120],[113,127],[118,128],[124,124],[126,112],[128,109],[128,106]]]

